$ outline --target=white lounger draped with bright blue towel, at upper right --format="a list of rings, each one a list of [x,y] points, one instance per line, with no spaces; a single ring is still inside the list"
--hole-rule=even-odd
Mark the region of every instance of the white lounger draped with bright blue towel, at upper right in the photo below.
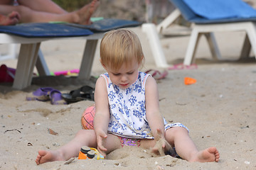
[[[210,52],[221,59],[213,33],[218,31],[245,31],[246,37],[240,57],[248,57],[250,49],[256,57],[256,10],[242,0],[169,0],[182,16],[194,23],[183,64],[194,62],[201,35],[206,35]]]

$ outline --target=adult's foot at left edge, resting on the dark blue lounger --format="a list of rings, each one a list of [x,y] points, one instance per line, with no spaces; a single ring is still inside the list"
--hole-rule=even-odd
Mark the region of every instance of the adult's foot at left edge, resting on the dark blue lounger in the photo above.
[[[0,26],[11,26],[19,22],[20,15],[16,11],[12,11],[8,16],[0,15]]]

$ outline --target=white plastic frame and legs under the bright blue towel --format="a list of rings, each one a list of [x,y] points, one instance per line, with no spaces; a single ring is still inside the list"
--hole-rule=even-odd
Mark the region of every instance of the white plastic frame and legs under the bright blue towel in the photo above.
[[[246,36],[240,53],[240,59],[249,57],[250,50],[256,57],[256,27],[253,22],[239,22],[239,23],[213,23],[213,24],[195,24],[191,32],[191,38],[188,42],[186,56],[183,64],[190,65],[195,62],[196,50],[201,35],[206,35],[206,40],[210,47],[210,52],[215,60],[221,60],[220,50],[213,33],[223,31],[245,31]]]

